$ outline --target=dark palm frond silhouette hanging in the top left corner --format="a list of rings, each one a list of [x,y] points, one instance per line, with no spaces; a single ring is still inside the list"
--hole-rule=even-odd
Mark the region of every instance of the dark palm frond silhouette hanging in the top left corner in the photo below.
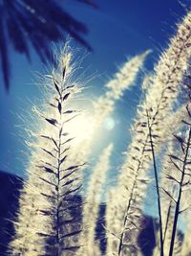
[[[79,3],[96,7],[93,1]],[[0,4],[0,58],[5,89],[10,88],[9,41],[13,49],[29,60],[31,48],[42,61],[51,58],[49,45],[71,35],[76,41],[91,50],[83,38],[86,26],[64,10],[64,1],[55,0],[3,0]]]

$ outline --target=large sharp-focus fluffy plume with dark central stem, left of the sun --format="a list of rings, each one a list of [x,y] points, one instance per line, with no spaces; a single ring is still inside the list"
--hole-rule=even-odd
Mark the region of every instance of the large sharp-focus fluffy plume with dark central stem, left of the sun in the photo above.
[[[74,64],[68,45],[52,74],[44,77],[43,107],[33,107],[35,128],[29,177],[21,191],[11,255],[74,255],[80,233],[79,164],[71,162],[73,138],[68,123],[78,114],[70,99],[79,89],[72,82]],[[83,163],[81,163],[83,165]]]

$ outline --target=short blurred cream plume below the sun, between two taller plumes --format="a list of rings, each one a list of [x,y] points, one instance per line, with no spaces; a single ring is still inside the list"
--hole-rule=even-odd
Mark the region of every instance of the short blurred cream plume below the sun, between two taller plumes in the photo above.
[[[100,154],[88,184],[87,196],[83,206],[83,227],[81,233],[81,244],[78,255],[97,255],[99,256],[99,243],[96,241],[96,222],[99,218],[99,206],[103,186],[106,181],[107,171],[110,169],[110,156],[113,145],[110,144]]]

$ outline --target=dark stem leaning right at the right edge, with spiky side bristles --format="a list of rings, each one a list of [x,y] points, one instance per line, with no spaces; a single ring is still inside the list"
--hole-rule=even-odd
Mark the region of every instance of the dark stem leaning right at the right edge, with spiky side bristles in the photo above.
[[[173,249],[174,249],[175,237],[176,237],[176,231],[177,231],[177,223],[178,223],[179,215],[180,215],[180,200],[181,200],[181,193],[182,193],[182,185],[183,185],[183,179],[184,179],[184,175],[185,175],[186,161],[187,161],[188,152],[190,149],[190,140],[191,140],[191,128],[189,129],[189,136],[188,136],[188,140],[186,143],[185,156],[183,159],[183,167],[182,167],[181,178],[180,178],[179,196],[178,196],[178,200],[177,200],[176,208],[175,208],[175,216],[174,216],[174,221],[173,221],[173,230],[172,230],[172,236],[171,236],[169,256],[173,256]]]

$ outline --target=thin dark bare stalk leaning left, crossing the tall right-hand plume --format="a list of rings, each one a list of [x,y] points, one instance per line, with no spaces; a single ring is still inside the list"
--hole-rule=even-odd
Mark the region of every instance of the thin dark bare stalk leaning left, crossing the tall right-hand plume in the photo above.
[[[148,113],[147,113],[147,117],[148,117],[148,128],[149,128],[149,137],[150,137],[150,143],[151,143],[151,151],[152,151],[152,156],[153,156],[153,168],[154,168],[155,182],[156,182],[157,196],[158,196],[160,256],[164,256],[163,238],[162,238],[163,233],[162,233],[162,221],[161,221],[161,205],[160,205],[160,195],[159,195],[159,177],[158,177],[155,150],[154,150],[153,139],[152,139],[152,128],[150,126]]]

